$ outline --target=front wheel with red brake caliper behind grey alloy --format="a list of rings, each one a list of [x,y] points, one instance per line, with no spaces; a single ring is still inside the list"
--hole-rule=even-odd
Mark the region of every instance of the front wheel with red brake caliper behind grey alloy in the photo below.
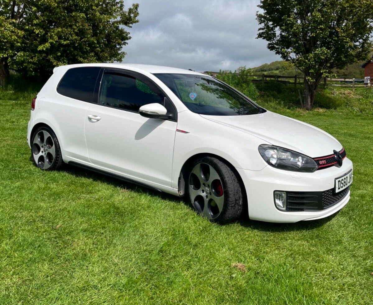
[[[186,189],[192,207],[210,221],[223,224],[241,216],[243,196],[238,178],[217,158],[196,160],[189,172]]]

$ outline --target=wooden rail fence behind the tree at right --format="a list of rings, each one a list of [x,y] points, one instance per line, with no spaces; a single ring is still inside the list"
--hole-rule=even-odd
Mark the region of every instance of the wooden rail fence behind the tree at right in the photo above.
[[[261,74],[261,75],[251,75],[256,77],[253,79],[253,82],[266,82],[268,79],[275,79],[275,81],[281,82],[285,85],[293,84],[295,87],[297,85],[303,85],[304,77],[303,76],[283,76],[283,75],[269,75],[269,74]],[[344,84],[341,84],[341,83]],[[328,84],[329,83],[329,84]],[[352,87],[352,90],[355,87],[368,87],[373,85],[373,78],[370,79],[370,84],[364,84],[364,79],[344,79],[344,78],[324,78],[324,87],[332,86],[332,87]]]

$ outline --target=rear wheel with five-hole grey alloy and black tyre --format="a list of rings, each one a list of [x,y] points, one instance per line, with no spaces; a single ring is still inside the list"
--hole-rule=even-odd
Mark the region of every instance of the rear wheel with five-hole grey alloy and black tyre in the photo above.
[[[42,170],[55,170],[62,164],[60,144],[52,129],[38,128],[31,137],[32,160]]]

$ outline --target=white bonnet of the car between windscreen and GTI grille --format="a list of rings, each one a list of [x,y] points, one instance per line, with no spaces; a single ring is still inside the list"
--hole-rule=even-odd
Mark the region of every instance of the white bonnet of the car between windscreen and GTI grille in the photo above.
[[[201,116],[312,158],[330,155],[333,150],[342,149],[342,145],[329,133],[271,111],[247,116]]]

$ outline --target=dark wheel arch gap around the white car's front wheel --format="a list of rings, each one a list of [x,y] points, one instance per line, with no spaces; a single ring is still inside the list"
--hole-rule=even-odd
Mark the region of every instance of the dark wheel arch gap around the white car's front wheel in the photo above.
[[[203,157],[216,158],[216,159],[222,161],[223,163],[225,163],[229,167],[229,169],[231,169],[232,172],[235,173],[235,175],[238,179],[238,182],[241,186],[242,196],[243,196],[243,200],[244,200],[244,207],[247,207],[246,188],[245,188],[245,185],[244,185],[244,181],[241,178],[241,175],[237,172],[235,167],[228,160],[226,160],[225,158],[222,158],[218,155],[211,154],[211,153],[198,153],[198,154],[192,155],[191,157],[188,158],[188,160],[186,160],[184,162],[183,166],[181,167],[179,178],[178,178],[179,196],[183,197],[185,195],[185,188],[186,188],[187,181],[188,181],[188,176],[187,175],[188,175],[189,170],[191,169],[191,165],[194,163],[195,160],[197,160],[199,158],[203,158]]]

